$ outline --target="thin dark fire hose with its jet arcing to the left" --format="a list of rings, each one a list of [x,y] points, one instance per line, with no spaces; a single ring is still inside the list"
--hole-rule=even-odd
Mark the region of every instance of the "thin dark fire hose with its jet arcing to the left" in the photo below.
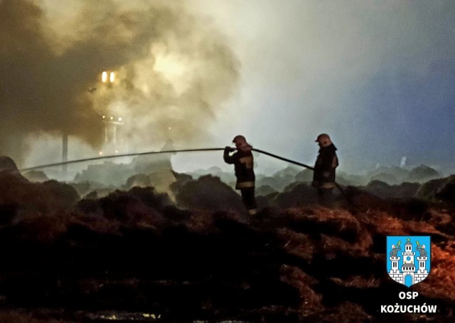
[[[32,166],[32,167],[27,167],[24,169],[20,169],[20,171],[31,171],[33,169],[43,169],[43,168],[48,168],[48,167],[53,167],[53,166],[61,166],[61,165],[67,165],[67,164],[76,164],[76,163],[81,163],[81,162],[90,162],[94,160],[100,160],[100,159],[112,159],[112,158],[121,158],[121,157],[135,157],[135,156],[144,156],[144,155],[152,155],[152,154],[173,154],[177,152],[214,152],[214,151],[220,151],[224,150],[224,148],[198,148],[198,149],[177,149],[177,150],[161,150],[159,152],[139,152],[139,153],[133,153],[133,154],[115,154],[115,155],[109,155],[109,156],[100,156],[100,157],[92,157],[92,158],[85,158],[85,159],[76,159],[76,160],[70,160],[68,162],[59,162],[59,163],[53,163],[53,164],[45,164],[45,165],[39,165],[39,166]],[[311,169],[314,171],[314,168],[311,166],[308,166],[306,164],[302,164],[299,162],[296,162],[291,159],[287,159],[281,156],[278,156],[276,154],[271,154],[269,152],[264,152],[264,150],[261,149],[252,149],[254,152],[259,152],[259,154],[264,154],[269,157],[273,157],[276,159],[280,159],[284,162],[288,162],[290,164],[295,164],[299,166],[303,166],[306,169]],[[341,186],[335,182],[336,188],[341,191],[341,194],[348,200],[349,203],[353,204],[353,201],[349,198],[349,196],[346,194],[346,192],[341,188]]]

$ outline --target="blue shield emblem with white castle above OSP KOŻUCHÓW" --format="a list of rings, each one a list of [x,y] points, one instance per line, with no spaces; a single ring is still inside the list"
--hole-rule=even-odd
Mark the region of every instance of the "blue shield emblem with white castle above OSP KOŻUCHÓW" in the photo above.
[[[395,282],[410,287],[429,275],[432,238],[429,235],[387,235],[387,272]]]

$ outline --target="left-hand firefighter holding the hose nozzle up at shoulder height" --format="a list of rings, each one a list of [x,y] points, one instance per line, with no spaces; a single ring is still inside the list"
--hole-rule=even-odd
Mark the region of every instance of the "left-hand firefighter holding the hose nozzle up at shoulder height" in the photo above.
[[[255,171],[252,155],[252,146],[247,143],[245,137],[238,135],[232,140],[235,148],[226,146],[223,159],[228,164],[234,164],[235,177],[237,183],[235,189],[239,189],[242,194],[242,202],[247,208],[248,214],[256,214],[255,198]],[[233,152],[233,154],[231,154]]]

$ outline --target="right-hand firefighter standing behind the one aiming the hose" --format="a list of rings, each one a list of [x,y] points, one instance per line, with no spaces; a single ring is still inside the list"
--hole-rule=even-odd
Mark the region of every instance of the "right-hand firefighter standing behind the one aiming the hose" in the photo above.
[[[338,166],[336,147],[328,134],[319,134],[315,142],[319,144],[319,154],[314,164],[313,182],[318,190],[319,203],[332,201],[332,191],[335,187],[335,169]]]

